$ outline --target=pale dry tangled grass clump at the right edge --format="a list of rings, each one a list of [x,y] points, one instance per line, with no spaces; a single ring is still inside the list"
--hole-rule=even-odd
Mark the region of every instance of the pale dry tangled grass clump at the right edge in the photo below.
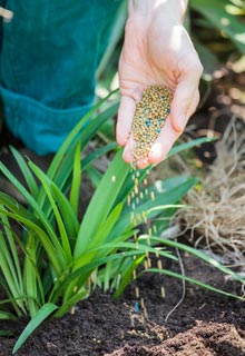
[[[198,248],[245,268],[245,131],[233,118],[217,142],[217,158],[200,185],[192,189],[179,217]],[[238,134],[239,132],[239,134]]]

